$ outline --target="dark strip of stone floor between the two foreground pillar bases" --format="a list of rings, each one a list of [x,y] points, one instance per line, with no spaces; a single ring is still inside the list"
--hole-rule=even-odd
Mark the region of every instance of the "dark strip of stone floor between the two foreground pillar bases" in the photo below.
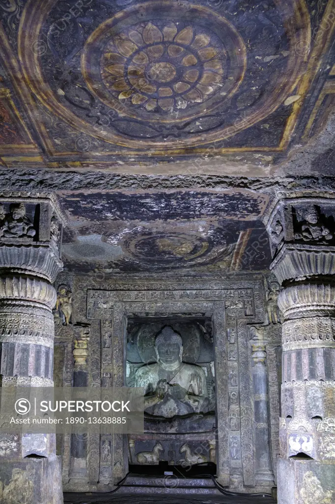
[[[275,504],[271,497],[226,497],[224,495],[215,496],[191,496],[191,495],[83,495],[64,494],[64,504]]]

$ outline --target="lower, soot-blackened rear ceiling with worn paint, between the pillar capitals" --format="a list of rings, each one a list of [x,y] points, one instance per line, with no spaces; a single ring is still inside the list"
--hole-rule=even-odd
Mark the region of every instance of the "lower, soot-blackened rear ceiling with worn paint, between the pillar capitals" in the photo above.
[[[61,194],[65,269],[97,275],[266,270],[268,198],[248,191]]]

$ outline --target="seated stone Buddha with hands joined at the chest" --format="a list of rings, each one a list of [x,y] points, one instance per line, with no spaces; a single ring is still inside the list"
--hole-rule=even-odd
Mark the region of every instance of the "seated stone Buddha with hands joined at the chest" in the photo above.
[[[172,327],[155,338],[157,361],[139,367],[135,387],[144,388],[144,410],[172,418],[208,410],[206,376],[202,367],[183,362],[183,340]]]

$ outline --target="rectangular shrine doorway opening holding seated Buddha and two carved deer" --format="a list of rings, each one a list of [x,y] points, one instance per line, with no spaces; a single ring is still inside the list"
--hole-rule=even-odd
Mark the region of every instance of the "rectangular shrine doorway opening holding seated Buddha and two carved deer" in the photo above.
[[[128,435],[129,466],[151,474],[157,465],[178,466],[190,474],[211,463],[215,473],[211,318],[128,318],[126,359],[127,386],[146,394],[144,434]]]

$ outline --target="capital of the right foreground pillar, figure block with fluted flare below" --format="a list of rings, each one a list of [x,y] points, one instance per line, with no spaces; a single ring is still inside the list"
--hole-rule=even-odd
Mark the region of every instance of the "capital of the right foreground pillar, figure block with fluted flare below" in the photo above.
[[[266,216],[273,262],[285,281],[335,274],[335,199],[283,198]]]

